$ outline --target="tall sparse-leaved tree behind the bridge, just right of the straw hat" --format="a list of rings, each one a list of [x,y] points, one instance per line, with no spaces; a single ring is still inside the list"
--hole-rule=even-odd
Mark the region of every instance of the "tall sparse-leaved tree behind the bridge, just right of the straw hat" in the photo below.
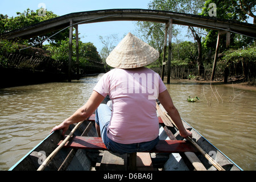
[[[188,14],[199,14],[201,12],[201,9],[204,6],[204,1],[203,0],[154,0],[151,1],[148,4],[149,9],[154,9],[154,10],[164,10],[164,11],[175,11],[177,13],[188,13]],[[158,49],[159,53],[161,53],[162,49],[163,49],[163,40],[164,40],[164,25],[160,24],[160,28],[153,26],[153,23],[151,23],[151,26],[145,26],[146,24],[148,24],[147,22],[143,22],[141,24],[138,24],[142,31],[145,32],[144,34],[146,34],[147,36],[151,35],[151,40],[154,43],[158,43],[155,45],[153,45],[153,47],[155,47],[156,49]],[[156,27],[154,29],[154,27]],[[150,30],[150,31],[149,31]],[[204,72],[204,65],[203,65],[203,49],[201,46],[201,38],[202,35],[204,34],[204,30],[202,30],[201,28],[197,28],[197,27],[191,27],[188,26],[188,32],[190,32],[188,35],[185,36],[192,36],[194,38],[194,40],[197,42],[197,51],[195,52],[196,56],[192,56],[193,57],[193,61],[192,63],[194,64],[195,67],[197,67],[198,72],[200,75],[203,74]],[[177,39],[177,34],[179,33],[179,28],[177,26],[173,26],[172,28],[172,38],[176,38]],[[154,36],[157,36],[158,39],[154,38]],[[145,36],[145,35],[144,35]],[[157,42],[155,41],[157,40]],[[179,40],[177,40],[177,42],[179,42]],[[151,43],[151,42],[149,42]],[[172,51],[172,55],[175,51]],[[191,54],[187,54],[188,56],[190,56]],[[191,58],[191,57],[190,57]],[[179,63],[178,60],[181,60],[181,63]],[[186,60],[187,61],[187,60]],[[185,62],[186,62],[185,61]],[[172,59],[172,63],[174,63],[175,65],[184,65],[184,60],[183,59]],[[160,57],[159,59],[159,64],[162,63],[162,59]]]

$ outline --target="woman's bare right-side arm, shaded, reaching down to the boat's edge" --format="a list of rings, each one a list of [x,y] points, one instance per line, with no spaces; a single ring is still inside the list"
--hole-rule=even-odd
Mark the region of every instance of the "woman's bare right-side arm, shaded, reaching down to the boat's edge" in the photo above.
[[[168,90],[165,90],[164,92],[160,93],[158,96],[158,100],[163,105],[167,113],[171,116],[175,125],[178,127],[181,137],[192,137],[191,131],[188,131],[183,126],[179,111],[177,111],[176,107],[174,106],[174,103],[172,102],[172,98],[168,93]]]

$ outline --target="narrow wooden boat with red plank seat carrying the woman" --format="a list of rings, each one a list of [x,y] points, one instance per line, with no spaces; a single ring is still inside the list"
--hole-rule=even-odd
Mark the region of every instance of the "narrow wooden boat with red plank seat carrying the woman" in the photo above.
[[[179,131],[176,129],[175,125],[171,123],[171,118],[168,114],[164,113],[163,107],[161,105],[158,106],[158,104],[156,104],[156,106],[159,115],[159,139],[162,142],[169,141],[171,144],[167,144],[168,142],[166,142],[163,148],[155,148],[155,150],[145,152],[144,154],[150,158],[150,164],[143,164],[143,167],[136,167],[136,164],[138,165],[138,159],[143,160],[143,157],[141,158],[141,156],[139,156],[142,155],[141,153],[139,155],[137,153],[137,156],[135,153],[134,157],[134,154],[119,155],[106,150],[104,144],[102,146],[100,138],[97,138],[96,129],[94,127],[94,117],[92,115],[92,117],[81,123],[78,129],[72,134],[73,136],[69,142],[56,152],[56,155],[51,159],[51,162],[44,167],[44,170],[100,171],[106,169],[129,171],[138,169],[154,171],[242,171],[237,164],[232,162],[232,160],[214,147],[213,144],[208,142],[207,139],[184,120],[183,124],[185,128],[192,131],[193,140],[188,141],[189,139],[180,137]],[[70,133],[74,127],[75,125],[71,125],[67,134]],[[63,140],[64,138],[61,136],[60,131],[55,131],[48,135],[48,137],[11,167],[9,171],[38,170],[38,168],[42,166],[42,160],[52,154]],[[90,143],[89,146],[88,143]],[[197,147],[199,147],[199,149]],[[208,157],[211,156],[211,160],[209,160],[206,155]],[[216,167],[216,165],[214,165],[215,163],[217,166],[220,166],[220,168]]]

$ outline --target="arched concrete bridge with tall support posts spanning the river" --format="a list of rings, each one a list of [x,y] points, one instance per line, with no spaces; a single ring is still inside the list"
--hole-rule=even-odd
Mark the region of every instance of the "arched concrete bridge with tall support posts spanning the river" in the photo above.
[[[34,36],[39,36],[46,34],[48,32],[53,32],[61,30],[63,28],[70,28],[69,38],[72,38],[72,27],[76,28],[76,40],[78,42],[78,25],[86,23],[96,23],[96,22],[107,22],[107,21],[117,21],[117,20],[132,20],[132,21],[148,21],[148,22],[158,22],[166,24],[166,36],[165,44],[167,47],[167,35],[169,35],[168,45],[171,45],[171,35],[172,35],[172,24],[179,24],[184,26],[200,27],[212,30],[218,30],[218,40],[220,35],[226,34],[227,44],[229,44],[230,32],[236,34],[242,34],[256,38],[256,25],[249,23],[237,22],[235,20],[225,20],[218,19],[209,16],[200,16],[184,13],[176,13],[171,11],[159,11],[159,10],[144,10],[144,9],[110,9],[110,10],[96,10],[96,11],[84,11],[78,13],[71,13],[57,18],[49,19],[44,22],[33,24],[28,27],[23,27],[19,30],[6,32],[2,34],[2,38],[5,39],[15,39],[22,38],[28,39]],[[218,42],[216,45],[216,53],[218,52]],[[69,41],[70,45],[72,41]],[[78,46],[78,44],[77,44]],[[70,48],[72,46],[69,46]],[[78,48],[78,47],[77,47]],[[71,49],[70,49],[71,50]],[[171,46],[168,46],[168,61],[166,63],[163,60],[163,67],[167,64],[167,84],[170,83],[170,67],[171,67]],[[69,51],[69,67],[71,67],[71,56],[72,52]],[[164,56],[165,57],[165,56]],[[77,55],[77,61],[79,57]],[[214,58],[214,66],[212,79],[214,77],[214,71],[217,63],[217,54]],[[162,74],[163,76],[163,74]]]

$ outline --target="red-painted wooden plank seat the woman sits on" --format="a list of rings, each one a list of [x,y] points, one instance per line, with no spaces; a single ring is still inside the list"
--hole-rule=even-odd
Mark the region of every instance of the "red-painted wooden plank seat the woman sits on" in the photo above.
[[[72,137],[64,147],[108,150],[100,137]],[[197,152],[197,149],[184,140],[159,140],[153,150],[145,152]]]

